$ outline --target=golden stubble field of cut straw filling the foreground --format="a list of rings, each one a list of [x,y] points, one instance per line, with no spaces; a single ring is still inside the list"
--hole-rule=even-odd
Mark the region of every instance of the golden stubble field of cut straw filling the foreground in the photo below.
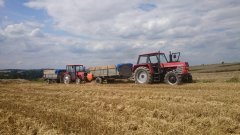
[[[240,134],[240,83],[0,84],[0,134]]]

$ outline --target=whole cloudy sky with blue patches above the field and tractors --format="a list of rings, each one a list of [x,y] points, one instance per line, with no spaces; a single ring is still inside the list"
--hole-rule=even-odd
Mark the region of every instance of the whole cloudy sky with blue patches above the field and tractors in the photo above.
[[[136,63],[158,50],[239,62],[239,13],[239,0],[0,0],[0,69]]]

